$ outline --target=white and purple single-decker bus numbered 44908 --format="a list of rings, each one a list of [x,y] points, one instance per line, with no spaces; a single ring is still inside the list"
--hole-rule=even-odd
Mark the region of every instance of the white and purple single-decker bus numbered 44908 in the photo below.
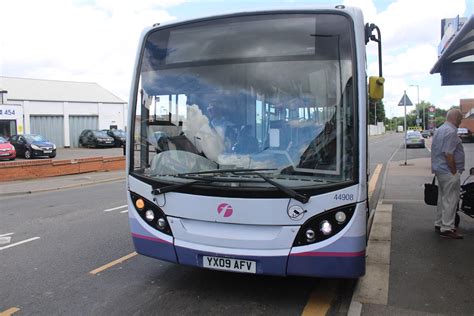
[[[136,251],[234,272],[364,275],[370,39],[380,61],[378,28],[344,6],[146,29],[127,139]]]

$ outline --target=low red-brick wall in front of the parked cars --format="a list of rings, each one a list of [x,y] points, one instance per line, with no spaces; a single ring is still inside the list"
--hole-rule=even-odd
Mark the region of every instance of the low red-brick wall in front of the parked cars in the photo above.
[[[125,169],[125,157],[93,157],[73,160],[28,160],[0,164],[0,181],[55,177],[94,171]]]

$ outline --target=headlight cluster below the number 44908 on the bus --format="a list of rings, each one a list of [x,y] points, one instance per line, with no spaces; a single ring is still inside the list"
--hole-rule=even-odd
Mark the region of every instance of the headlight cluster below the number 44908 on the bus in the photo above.
[[[304,246],[328,239],[339,233],[350,222],[356,205],[345,205],[308,219],[296,235],[295,246]]]

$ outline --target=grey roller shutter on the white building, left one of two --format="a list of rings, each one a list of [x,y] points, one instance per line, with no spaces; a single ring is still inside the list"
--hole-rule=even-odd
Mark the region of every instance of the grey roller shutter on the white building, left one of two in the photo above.
[[[31,134],[40,134],[47,140],[64,147],[64,117],[59,115],[30,115]]]

